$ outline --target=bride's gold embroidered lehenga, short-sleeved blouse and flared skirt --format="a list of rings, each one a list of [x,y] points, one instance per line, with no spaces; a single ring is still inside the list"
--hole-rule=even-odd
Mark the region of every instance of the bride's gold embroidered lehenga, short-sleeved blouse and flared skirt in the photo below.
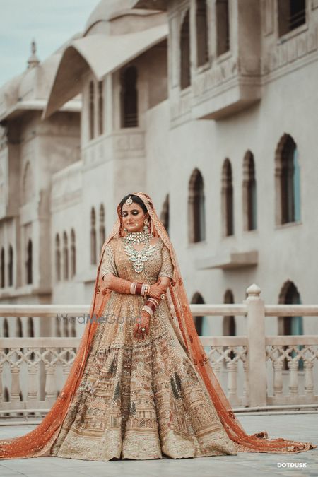
[[[159,276],[172,278],[162,240],[141,273],[122,247],[122,238],[107,244],[102,274],[149,284]],[[166,300],[155,310],[149,336],[134,339],[144,302],[141,295],[111,291],[52,455],[106,461],[158,459],[163,453],[173,458],[237,454]]]

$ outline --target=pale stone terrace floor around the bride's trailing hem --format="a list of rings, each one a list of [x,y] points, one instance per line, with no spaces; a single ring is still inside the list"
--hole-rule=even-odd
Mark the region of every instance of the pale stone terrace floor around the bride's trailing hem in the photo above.
[[[249,434],[267,430],[269,437],[285,437],[318,445],[318,413],[239,416]],[[35,426],[0,426],[0,439],[24,435]],[[278,468],[278,463],[307,464],[305,469]],[[318,476],[318,447],[298,454],[264,454],[240,452],[237,456],[198,457],[196,459],[156,459],[148,461],[93,462],[58,457],[9,459],[0,461],[0,476],[30,477],[117,477],[117,476]]]

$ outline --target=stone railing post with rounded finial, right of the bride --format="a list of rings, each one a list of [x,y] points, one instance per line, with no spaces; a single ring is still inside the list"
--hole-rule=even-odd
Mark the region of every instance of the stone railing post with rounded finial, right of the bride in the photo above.
[[[249,363],[249,406],[266,406],[265,309],[261,289],[247,288],[247,339]]]

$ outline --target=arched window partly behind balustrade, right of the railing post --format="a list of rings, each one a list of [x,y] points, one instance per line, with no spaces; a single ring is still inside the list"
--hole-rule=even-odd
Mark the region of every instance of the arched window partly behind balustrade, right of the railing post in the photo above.
[[[288,280],[284,283],[281,288],[281,293],[279,294],[278,302],[283,305],[300,305],[300,293],[296,288],[295,284]],[[280,335],[302,335],[304,334],[303,330],[303,318],[302,317],[278,317],[278,334]],[[287,349],[288,346],[284,346],[284,349]],[[302,349],[303,346],[298,346],[298,349]],[[295,351],[290,353],[290,358],[295,357]],[[283,361],[283,367],[285,370],[288,370],[288,360],[285,358]],[[302,370],[304,363],[302,358],[298,360],[298,370]]]

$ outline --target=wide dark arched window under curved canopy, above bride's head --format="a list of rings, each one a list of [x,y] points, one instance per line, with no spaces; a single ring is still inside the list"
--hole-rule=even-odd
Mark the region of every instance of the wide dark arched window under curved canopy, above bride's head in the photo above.
[[[122,72],[121,111],[122,127],[138,126],[138,90],[136,66]]]

